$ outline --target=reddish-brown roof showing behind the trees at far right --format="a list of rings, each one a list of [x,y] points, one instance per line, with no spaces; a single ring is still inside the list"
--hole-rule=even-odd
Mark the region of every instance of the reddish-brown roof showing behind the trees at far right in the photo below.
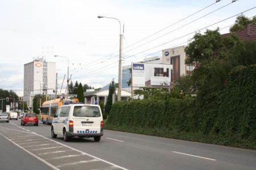
[[[242,40],[254,40],[256,41],[256,25],[248,24],[241,31],[236,32],[237,36]],[[230,36],[231,32],[228,34],[222,34],[222,36]]]

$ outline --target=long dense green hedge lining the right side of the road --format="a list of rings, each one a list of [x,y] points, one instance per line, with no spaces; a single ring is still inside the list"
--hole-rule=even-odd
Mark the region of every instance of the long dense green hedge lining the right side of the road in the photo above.
[[[233,69],[224,90],[200,101],[117,102],[106,128],[256,150],[256,65]]]

